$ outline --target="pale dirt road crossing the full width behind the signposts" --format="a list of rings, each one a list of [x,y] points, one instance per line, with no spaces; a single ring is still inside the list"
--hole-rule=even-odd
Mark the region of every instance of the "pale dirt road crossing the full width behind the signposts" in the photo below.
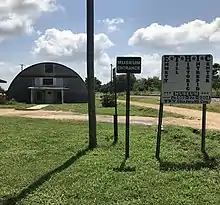
[[[135,103],[136,102],[132,102]],[[137,105],[137,104],[136,104]],[[149,104],[147,105],[138,105],[144,107],[150,107]],[[155,105],[153,105],[155,106]],[[156,107],[157,108],[157,105]],[[172,107],[173,108],[173,107]],[[182,109],[182,108],[178,108]],[[175,110],[175,108],[174,108]],[[173,110],[173,111],[174,111]],[[186,111],[186,109],[182,110]],[[188,110],[188,112],[192,112],[192,110]],[[197,111],[199,112],[199,111]],[[182,113],[181,113],[182,114]],[[215,113],[214,113],[215,114]],[[210,115],[210,114],[209,114]],[[0,116],[8,116],[8,117],[27,117],[27,118],[42,118],[42,119],[57,119],[57,120],[79,120],[79,121],[87,121],[88,115],[83,114],[76,114],[72,112],[63,112],[63,111],[46,111],[46,110],[38,110],[38,111],[27,111],[27,110],[14,110],[14,109],[1,109]],[[209,116],[210,118],[210,116]],[[156,125],[157,118],[153,117],[140,117],[140,116],[131,116],[131,123],[132,124],[144,124],[144,125]],[[113,122],[113,116],[110,115],[97,115],[98,122]],[[125,116],[119,116],[119,123],[125,123]],[[166,117],[163,119],[164,125],[181,125],[181,126],[189,126],[196,129],[201,128],[201,120],[198,119],[181,119],[181,118],[173,118],[173,117]],[[219,118],[212,118],[212,120],[207,120],[207,128],[220,130],[220,117]]]

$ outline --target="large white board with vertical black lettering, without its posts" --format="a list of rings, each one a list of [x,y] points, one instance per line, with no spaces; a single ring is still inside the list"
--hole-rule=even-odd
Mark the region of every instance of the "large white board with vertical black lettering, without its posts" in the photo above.
[[[161,102],[208,104],[212,92],[212,55],[164,55]]]

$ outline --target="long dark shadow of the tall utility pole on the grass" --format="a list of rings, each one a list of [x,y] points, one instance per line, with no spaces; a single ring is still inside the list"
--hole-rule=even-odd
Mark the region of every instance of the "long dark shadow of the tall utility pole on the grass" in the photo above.
[[[67,169],[71,165],[73,165],[79,158],[86,155],[86,153],[91,150],[89,148],[83,149],[79,152],[77,152],[76,155],[72,156],[70,159],[68,159],[66,162],[64,162],[59,167],[49,171],[48,173],[41,176],[37,181],[30,184],[28,187],[24,188],[20,193],[16,194],[15,196],[5,196],[2,199],[0,199],[1,205],[16,205],[18,202],[20,202],[22,199],[25,199],[29,194],[33,193],[37,188],[39,188],[41,185],[43,185],[44,182],[50,180],[50,178],[59,172],[62,172],[63,170]]]

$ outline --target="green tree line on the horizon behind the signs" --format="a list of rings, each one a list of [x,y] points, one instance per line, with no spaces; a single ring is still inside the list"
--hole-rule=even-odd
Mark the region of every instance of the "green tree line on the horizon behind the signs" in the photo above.
[[[212,70],[212,88],[213,92],[215,92],[216,95],[220,95],[220,77],[219,77],[219,71],[220,71],[220,64],[215,63],[213,65]],[[85,79],[86,85],[87,85],[87,78]],[[134,74],[130,75],[130,82],[131,82],[131,91],[134,92],[160,92],[161,87],[161,80],[159,77],[149,77],[149,78],[141,78],[137,79]],[[127,77],[126,74],[117,75],[116,76],[116,87],[117,92],[125,92],[126,91],[126,85],[127,85]],[[113,91],[113,82],[109,81],[105,84],[102,84],[102,82],[95,77],[95,91],[96,92],[102,92],[102,93],[108,93]]]

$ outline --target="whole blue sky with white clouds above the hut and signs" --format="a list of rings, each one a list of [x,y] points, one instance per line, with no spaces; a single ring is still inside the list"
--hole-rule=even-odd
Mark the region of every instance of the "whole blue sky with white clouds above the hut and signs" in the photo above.
[[[117,56],[141,56],[137,78],[160,76],[164,54],[210,53],[220,62],[219,0],[94,0],[95,76]],[[86,77],[85,0],[0,0],[0,78],[54,61]]]

